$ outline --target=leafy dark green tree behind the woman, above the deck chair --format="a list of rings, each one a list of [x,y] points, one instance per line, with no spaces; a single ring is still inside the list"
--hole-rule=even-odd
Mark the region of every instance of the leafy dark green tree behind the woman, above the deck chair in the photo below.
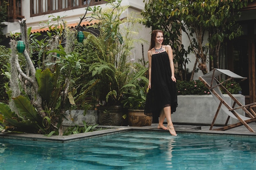
[[[179,71],[182,71],[182,68],[186,70],[186,64],[190,61],[187,55],[194,53],[200,70],[205,74],[207,73],[206,63],[209,60],[207,53],[210,51],[211,58],[218,63],[219,49],[225,38],[231,40],[242,34],[237,20],[240,17],[239,9],[245,7],[248,1],[144,0],[145,10],[141,14],[146,18],[144,24],[147,27],[165,32],[165,43],[171,44]],[[181,30],[189,38],[188,49],[184,49],[181,44]],[[207,46],[204,45],[205,31],[209,32]]]

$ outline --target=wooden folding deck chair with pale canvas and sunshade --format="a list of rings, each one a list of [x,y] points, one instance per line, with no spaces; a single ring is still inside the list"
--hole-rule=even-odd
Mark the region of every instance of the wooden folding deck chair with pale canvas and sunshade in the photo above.
[[[216,77],[218,77],[219,75],[222,75],[222,74],[227,75],[226,76],[227,79],[223,82],[219,82],[216,79]],[[205,86],[207,86],[207,88],[209,88],[209,91],[211,92],[211,95],[213,96],[215,101],[219,104],[218,109],[216,111],[216,114],[215,114],[215,116],[213,118],[213,121],[211,123],[210,130],[228,130],[228,129],[231,129],[231,128],[235,128],[235,127],[244,125],[250,132],[254,132],[254,130],[248,124],[256,121],[256,113],[252,109],[252,107],[256,106],[256,102],[254,102],[252,104],[242,105],[227,90],[227,88],[225,86],[223,86],[224,84],[227,84],[227,82],[230,81],[231,79],[240,79],[239,82],[241,82],[241,81],[247,79],[247,77],[241,77],[240,75],[237,75],[236,73],[233,73],[229,70],[214,68],[209,73],[199,77],[199,79],[200,79],[201,82],[204,83]],[[227,102],[225,102],[225,98],[223,97],[223,94],[220,91],[220,88],[222,88],[222,90],[225,91],[225,93],[227,93],[229,95],[229,97],[231,97],[231,99],[233,99],[234,104],[233,104],[232,107],[229,106],[229,104],[227,104]],[[218,116],[218,113],[220,111],[220,108],[228,115],[227,121],[226,121],[224,127],[212,129],[213,125],[215,123],[216,117]],[[240,115],[236,111],[238,109],[242,109],[248,115],[248,117]],[[234,119],[238,119],[240,122],[235,123],[235,124],[227,125],[230,117],[233,117]]]

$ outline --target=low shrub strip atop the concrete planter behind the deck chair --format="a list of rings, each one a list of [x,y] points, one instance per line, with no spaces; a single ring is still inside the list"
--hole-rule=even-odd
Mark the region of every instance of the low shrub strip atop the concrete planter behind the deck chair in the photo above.
[[[234,81],[227,82],[227,85],[225,85],[225,87],[231,94],[238,94],[242,90],[240,85],[236,84],[236,82]],[[225,94],[225,92],[223,91],[222,93]],[[177,80],[177,95],[209,95],[209,94],[211,94],[209,89],[200,80],[194,80],[194,81]]]

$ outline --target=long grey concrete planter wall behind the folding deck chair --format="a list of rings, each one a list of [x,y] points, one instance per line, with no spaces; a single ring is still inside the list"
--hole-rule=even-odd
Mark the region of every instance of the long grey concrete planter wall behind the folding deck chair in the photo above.
[[[233,95],[241,104],[245,104],[245,96]],[[232,106],[233,100],[228,95],[224,95],[225,101]],[[228,102],[229,101],[229,102]],[[176,112],[171,115],[173,123],[176,124],[206,124],[209,125],[213,121],[213,117],[218,109],[219,103],[213,99],[212,95],[178,95],[178,107]],[[238,113],[245,116],[243,110],[237,110]],[[218,113],[215,125],[223,125],[228,115],[222,110]],[[228,124],[238,122],[234,118],[230,118]]]

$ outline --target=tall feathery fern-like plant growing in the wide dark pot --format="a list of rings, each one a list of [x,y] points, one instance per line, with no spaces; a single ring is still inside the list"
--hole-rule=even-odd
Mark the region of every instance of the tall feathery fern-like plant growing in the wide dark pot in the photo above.
[[[93,96],[99,102],[99,124],[125,125],[126,111],[121,101],[124,91],[130,84],[132,61],[131,50],[135,42],[142,42],[135,38],[135,30],[143,19],[134,15],[124,15],[128,6],[121,6],[121,0],[109,1],[108,7],[89,7],[92,18],[99,20],[98,24],[91,27],[99,30],[99,35],[84,32],[87,46],[93,44],[97,58],[90,66],[92,76],[99,79],[94,86]],[[89,26],[90,27],[90,26]],[[112,119],[112,118],[115,119]]]

